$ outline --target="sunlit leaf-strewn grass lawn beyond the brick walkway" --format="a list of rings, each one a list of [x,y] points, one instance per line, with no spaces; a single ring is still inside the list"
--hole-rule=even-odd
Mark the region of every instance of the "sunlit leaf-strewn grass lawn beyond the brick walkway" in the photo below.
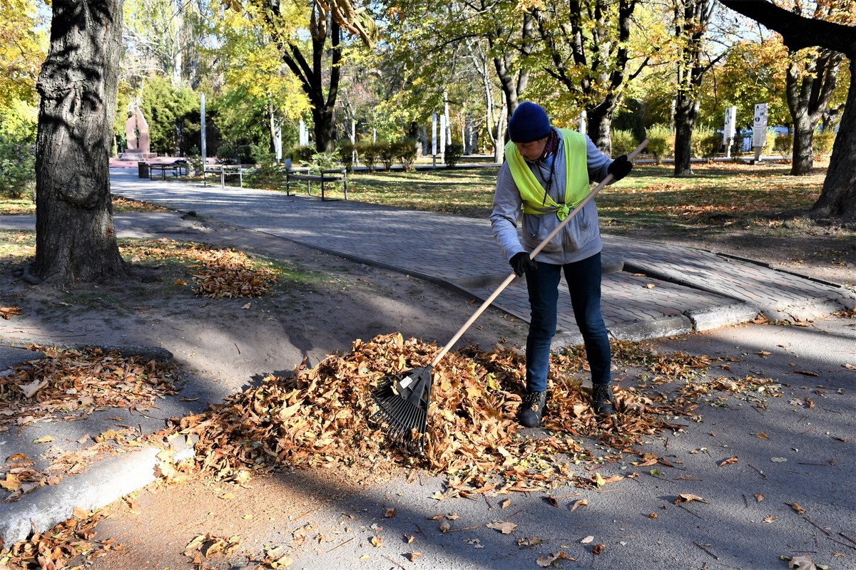
[[[825,164],[811,176],[795,177],[789,164],[758,166],[717,162],[693,167],[676,179],[669,166],[637,165],[626,179],[597,197],[605,231],[645,227],[722,226],[735,218],[769,224],[776,213],[808,209],[820,196]],[[354,173],[348,197],[407,209],[490,215],[496,168],[437,169],[414,173]]]

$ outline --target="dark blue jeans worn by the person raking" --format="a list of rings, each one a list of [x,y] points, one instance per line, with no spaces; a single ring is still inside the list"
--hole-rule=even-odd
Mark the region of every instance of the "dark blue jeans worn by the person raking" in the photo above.
[[[553,265],[536,261],[538,269],[526,272],[532,320],[526,338],[526,390],[546,391],[550,371],[550,344],[556,336],[556,303],[559,300],[559,280],[562,269],[568,281],[574,319],[586,344],[586,356],[591,367],[591,381],[609,384],[612,352],[609,333],[600,313],[600,254],[582,261]]]

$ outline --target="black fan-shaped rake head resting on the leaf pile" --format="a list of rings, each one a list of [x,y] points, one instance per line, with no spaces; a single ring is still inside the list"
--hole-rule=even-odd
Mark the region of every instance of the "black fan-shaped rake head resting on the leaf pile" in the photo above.
[[[431,367],[384,377],[372,391],[372,398],[377,412],[371,420],[382,424],[393,444],[422,455],[431,401]]]

